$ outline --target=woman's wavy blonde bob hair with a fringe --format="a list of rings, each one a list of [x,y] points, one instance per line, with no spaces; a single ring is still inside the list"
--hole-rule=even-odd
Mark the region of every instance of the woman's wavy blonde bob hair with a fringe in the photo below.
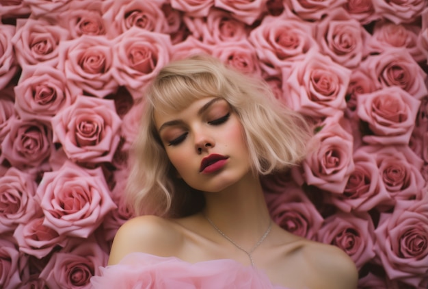
[[[262,79],[243,75],[208,55],[171,62],[152,81],[131,152],[135,158],[125,199],[135,214],[176,217],[202,209],[203,195],[176,177],[154,114],[183,110],[204,97],[222,97],[239,117],[255,175],[288,168],[306,155],[311,137],[306,121],[277,101]]]

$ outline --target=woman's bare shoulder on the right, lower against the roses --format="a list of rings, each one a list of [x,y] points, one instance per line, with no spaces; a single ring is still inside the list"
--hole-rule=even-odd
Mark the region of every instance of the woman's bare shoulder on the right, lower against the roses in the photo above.
[[[355,263],[342,249],[321,242],[306,242],[304,255],[310,260],[329,288],[357,288],[358,270]]]

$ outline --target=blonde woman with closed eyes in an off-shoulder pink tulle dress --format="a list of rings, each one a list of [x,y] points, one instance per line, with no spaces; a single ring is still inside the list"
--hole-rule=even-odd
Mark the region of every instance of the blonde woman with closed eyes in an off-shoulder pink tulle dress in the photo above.
[[[126,192],[140,216],[118,230],[94,286],[356,288],[343,251],[269,217],[260,175],[302,160],[309,138],[262,81],[208,56],[165,66],[146,99]]]

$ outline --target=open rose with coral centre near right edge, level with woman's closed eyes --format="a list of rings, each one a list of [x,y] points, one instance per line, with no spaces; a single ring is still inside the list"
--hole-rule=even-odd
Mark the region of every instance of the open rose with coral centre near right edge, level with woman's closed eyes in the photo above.
[[[369,144],[408,145],[420,101],[397,86],[358,96],[358,116],[369,126]]]

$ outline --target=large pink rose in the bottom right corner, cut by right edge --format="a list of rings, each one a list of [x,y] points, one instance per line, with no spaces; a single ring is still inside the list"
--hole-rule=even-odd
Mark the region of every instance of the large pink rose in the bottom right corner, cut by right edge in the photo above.
[[[375,251],[388,277],[418,286],[428,271],[428,202],[397,201],[382,213],[375,230]]]

